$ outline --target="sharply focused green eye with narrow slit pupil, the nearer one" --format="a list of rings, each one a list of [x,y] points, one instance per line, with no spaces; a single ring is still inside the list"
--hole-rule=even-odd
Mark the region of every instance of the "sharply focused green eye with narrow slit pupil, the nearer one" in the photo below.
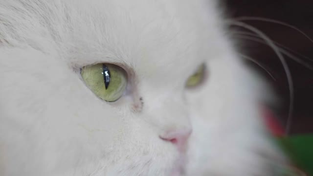
[[[127,85],[127,76],[119,66],[112,64],[96,64],[85,66],[81,75],[90,90],[99,98],[113,102],[124,93]]]

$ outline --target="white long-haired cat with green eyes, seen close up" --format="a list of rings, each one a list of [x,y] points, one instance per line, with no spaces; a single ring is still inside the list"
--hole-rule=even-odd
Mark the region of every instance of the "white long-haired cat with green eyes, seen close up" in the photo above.
[[[214,0],[0,0],[0,175],[273,175],[226,34]]]

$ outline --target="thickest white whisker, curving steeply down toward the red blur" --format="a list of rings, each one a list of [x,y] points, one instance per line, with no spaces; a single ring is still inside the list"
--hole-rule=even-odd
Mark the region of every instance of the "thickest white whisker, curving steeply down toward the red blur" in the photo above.
[[[293,101],[294,101],[294,92],[293,92],[293,81],[292,81],[292,76],[291,76],[291,71],[288,67],[288,64],[280,52],[279,48],[272,42],[272,40],[264,34],[262,31],[258,30],[257,28],[246,24],[245,22],[239,22],[239,21],[234,21],[234,20],[228,20],[226,23],[229,23],[230,25],[237,25],[239,27],[246,28],[257,35],[259,35],[264,41],[273,49],[273,51],[276,53],[277,57],[280,59],[282,66],[284,67],[288,85],[289,85],[289,96],[290,96],[290,102],[289,102],[289,113],[288,113],[288,119],[287,119],[287,125],[285,129],[286,135],[289,134],[290,128],[291,128],[291,122],[292,122],[292,113],[293,113]]]

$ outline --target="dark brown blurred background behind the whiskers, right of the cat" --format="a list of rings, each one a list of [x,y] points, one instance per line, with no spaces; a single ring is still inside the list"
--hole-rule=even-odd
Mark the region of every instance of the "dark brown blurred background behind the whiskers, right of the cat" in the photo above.
[[[313,39],[313,0],[225,0],[225,5],[230,17],[263,17],[286,22]],[[307,57],[291,52],[297,58],[305,61],[307,66],[313,66],[313,42],[300,32],[277,23],[245,22],[264,32],[271,40]],[[238,29],[240,28],[235,28],[235,30]],[[240,30],[245,31],[242,28]],[[268,45],[251,42],[242,37],[238,37],[238,39],[244,42],[242,49],[245,54],[266,67],[275,78],[274,81],[259,66],[252,62],[249,63],[249,65],[257,68],[264,77],[268,78],[275,89],[275,93],[279,95],[280,106],[276,107],[275,112],[282,123],[286,124],[290,101],[289,87],[280,60]],[[294,82],[294,112],[291,133],[313,132],[313,70],[294,62],[287,56],[285,59],[291,69]]]

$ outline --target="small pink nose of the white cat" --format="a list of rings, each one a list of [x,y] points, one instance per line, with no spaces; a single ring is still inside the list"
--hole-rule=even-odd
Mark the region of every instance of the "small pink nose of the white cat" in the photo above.
[[[186,146],[191,132],[191,129],[171,130],[164,135],[160,135],[160,138],[164,141],[175,144],[179,148],[179,150],[183,150]]]

